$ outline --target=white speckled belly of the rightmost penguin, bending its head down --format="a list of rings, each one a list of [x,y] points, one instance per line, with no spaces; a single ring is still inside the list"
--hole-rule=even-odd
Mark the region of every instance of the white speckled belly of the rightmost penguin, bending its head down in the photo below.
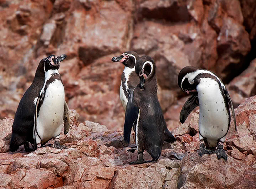
[[[219,84],[211,78],[201,78],[197,86],[199,99],[199,133],[209,147],[216,147],[229,128],[229,112]]]

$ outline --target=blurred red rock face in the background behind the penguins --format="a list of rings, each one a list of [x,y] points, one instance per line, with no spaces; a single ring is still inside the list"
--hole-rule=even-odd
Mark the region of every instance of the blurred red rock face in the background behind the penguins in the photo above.
[[[177,100],[184,95],[177,85],[179,71],[198,66],[224,82],[241,73],[256,39],[255,8],[254,0],[2,0],[0,118],[14,117],[42,58],[66,54],[59,72],[70,108],[80,113],[80,121],[122,129],[124,66],[111,58],[134,50],[154,58],[159,101],[168,127],[175,128]],[[255,95],[254,80],[246,94],[237,92],[237,83],[230,84],[236,106]]]

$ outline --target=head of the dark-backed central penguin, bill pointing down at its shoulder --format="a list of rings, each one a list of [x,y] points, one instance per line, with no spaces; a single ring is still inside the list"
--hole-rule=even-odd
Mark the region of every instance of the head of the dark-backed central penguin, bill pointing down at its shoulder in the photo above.
[[[156,65],[154,59],[149,56],[140,57],[135,65],[135,72],[140,77],[140,88],[144,89],[145,82],[149,82],[155,76]]]

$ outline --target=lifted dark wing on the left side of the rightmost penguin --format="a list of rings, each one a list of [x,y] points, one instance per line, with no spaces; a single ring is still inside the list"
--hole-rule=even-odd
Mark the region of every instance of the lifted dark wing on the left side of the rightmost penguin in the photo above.
[[[192,95],[183,105],[180,113],[180,122],[184,123],[187,119],[187,116],[199,106],[199,100],[197,95]]]

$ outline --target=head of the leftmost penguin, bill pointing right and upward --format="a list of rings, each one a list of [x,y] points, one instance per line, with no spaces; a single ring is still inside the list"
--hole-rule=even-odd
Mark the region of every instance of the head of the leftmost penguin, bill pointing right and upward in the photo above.
[[[45,58],[44,61],[44,70],[47,72],[48,70],[55,70],[59,68],[59,63],[63,61],[67,56],[65,54],[60,56],[50,55]]]

